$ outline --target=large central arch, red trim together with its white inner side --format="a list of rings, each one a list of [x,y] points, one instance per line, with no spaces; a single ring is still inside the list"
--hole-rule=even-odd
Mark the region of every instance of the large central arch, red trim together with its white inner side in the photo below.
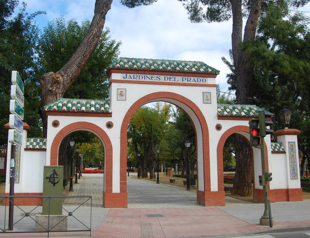
[[[198,174],[202,181],[198,178],[197,201],[205,206],[204,192],[211,191],[210,181],[210,151],[209,151],[209,130],[202,111],[197,105],[186,98],[185,96],[171,92],[156,92],[145,95],[138,99],[126,112],[121,126],[121,150],[120,150],[120,192],[127,194],[127,179],[126,179],[126,160],[127,160],[127,129],[130,119],[134,112],[142,105],[154,102],[164,101],[174,104],[182,108],[192,120],[196,130],[197,160]],[[201,160],[201,161],[200,161]],[[202,168],[201,168],[202,167]]]

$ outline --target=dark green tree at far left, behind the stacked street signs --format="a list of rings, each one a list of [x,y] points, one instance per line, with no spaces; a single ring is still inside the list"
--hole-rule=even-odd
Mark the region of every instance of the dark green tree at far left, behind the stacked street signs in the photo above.
[[[9,121],[9,100],[11,71],[17,70],[25,83],[25,119],[32,128],[29,133],[32,137],[41,136],[37,83],[33,81],[36,67],[36,48],[38,28],[33,24],[35,16],[44,12],[28,14],[26,4],[11,17],[18,5],[17,0],[0,1],[0,144],[7,143],[7,129],[3,127]]]

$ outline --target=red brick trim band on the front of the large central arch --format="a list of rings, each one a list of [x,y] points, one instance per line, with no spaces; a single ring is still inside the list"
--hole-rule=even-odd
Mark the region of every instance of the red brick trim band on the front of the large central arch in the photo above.
[[[205,118],[198,108],[198,106],[190,101],[188,98],[178,95],[171,92],[157,92],[152,93],[149,95],[145,95],[141,97],[139,100],[137,100],[127,111],[127,113],[124,116],[124,120],[122,122],[121,127],[121,168],[120,168],[120,191],[126,192],[127,190],[127,180],[126,180],[126,160],[127,160],[127,128],[129,121],[134,114],[134,112],[140,108],[142,105],[146,104],[147,102],[154,101],[154,99],[159,99],[163,101],[166,99],[173,99],[177,100],[183,104],[185,104],[187,107],[189,107],[197,116],[201,129],[202,129],[202,151],[203,151],[203,178],[204,178],[204,191],[210,191],[211,190],[211,183],[210,183],[210,152],[209,152],[209,129],[207,126],[207,123],[205,121]],[[167,100],[168,101],[168,100]]]

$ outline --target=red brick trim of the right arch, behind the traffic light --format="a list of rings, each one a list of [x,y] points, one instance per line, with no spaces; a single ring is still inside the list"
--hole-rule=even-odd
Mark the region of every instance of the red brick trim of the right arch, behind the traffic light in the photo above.
[[[228,130],[226,130],[221,138],[218,141],[217,144],[217,186],[219,191],[224,191],[224,177],[223,177],[223,147],[224,144],[227,140],[227,138],[232,135],[233,133],[238,133],[238,132],[246,132],[249,133],[249,127],[248,126],[235,126],[231,127]],[[241,135],[242,136],[242,135]],[[248,141],[248,139],[247,139]],[[249,143],[249,141],[248,141]],[[253,165],[253,173],[254,173],[254,157],[253,157],[253,148],[251,147],[251,152],[252,152],[252,165]],[[267,153],[267,145],[265,143],[265,159],[266,159],[266,172],[268,172],[268,153]],[[255,182],[255,179],[253,183]],[[255,184],[254,184],[255,188]],[[269,184],[268,184],[269,188]]]

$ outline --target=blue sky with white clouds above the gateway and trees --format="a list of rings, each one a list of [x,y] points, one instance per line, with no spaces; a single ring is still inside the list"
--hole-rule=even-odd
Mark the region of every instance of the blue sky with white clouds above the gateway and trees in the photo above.
[[[46,11],[35,21],[43,29],[48,21],[64,16],[79,23],[92,20],[95,0],[26,0],[28,13]],[[310,4],[302,9],[310,12]],[[306,13],[310,16],[309,13]],[[245,21],[244,21],[245,24]],[[229,58],[232,20],[222,23],[191,23],[178,0],[158,0],[150,6],[127,8],[112,2],[104,28],[121,41],[120,57],[202,61],[220,70],[217,84],[226,92],[226,74],[230,73],[221,58]]]

